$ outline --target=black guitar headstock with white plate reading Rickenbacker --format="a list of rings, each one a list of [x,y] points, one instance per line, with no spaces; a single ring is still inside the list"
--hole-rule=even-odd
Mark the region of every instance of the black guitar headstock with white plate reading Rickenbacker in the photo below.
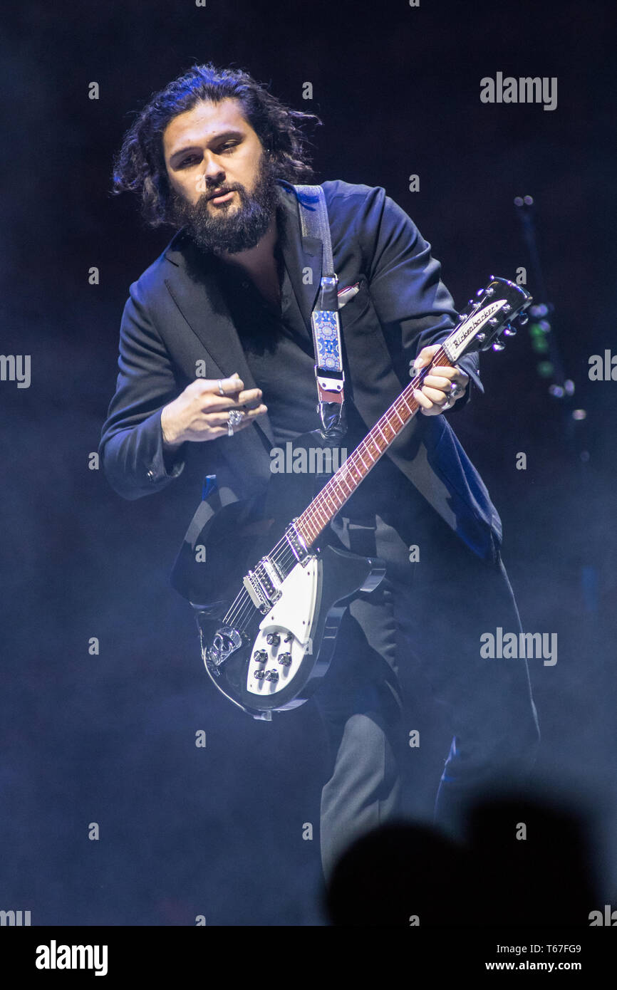
[[[442,345],[453,364],[463,353],[473,350],[503,350],[505,339],[514,337],[519,325],[527,323],[525,310],[532,296],[507,278],[490,276],[488,285],[478,289],[461,314],[461,321]]]

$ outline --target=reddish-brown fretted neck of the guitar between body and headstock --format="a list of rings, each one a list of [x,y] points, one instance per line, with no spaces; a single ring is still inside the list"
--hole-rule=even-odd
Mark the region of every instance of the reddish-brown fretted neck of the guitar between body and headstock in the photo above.
[[[403,389],[345,463],[296,519],[295,529],[307,546],[315,543],[331,519],[334,519],[352,497],[379,457],[416,415],[420,405],[414,398],[414,389],[422,386],[425,376],[436,364],[453,367],[443,347],[440,347],[431,363],[422,368]]]

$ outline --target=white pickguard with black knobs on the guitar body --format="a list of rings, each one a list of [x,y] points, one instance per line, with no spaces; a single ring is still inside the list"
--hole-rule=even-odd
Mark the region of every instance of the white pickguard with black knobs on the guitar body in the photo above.
[[[286,687],[298,672],[305,654],[313,651],[311,636],[316,621],[319,593],[317,559],[312,557],[304,566],[297,563],[282,582],[280,590],[280,598],[259,623],[259,632],[251,651],[247,690],[260,697],[277,694]],[[280,643],[268,644],[265,639],[268,633],[277,633]],[[285,643],[285,637],[289,633],[293,634],[293,639]],[[267,652],[264,663],[258,663],[254,658],[258,649]],[[277,655],[284,652],[291,653],[291,663],[288,666],[276,660]],[[278,680],[256,677],[256,673],[261,670],[275,670]]]

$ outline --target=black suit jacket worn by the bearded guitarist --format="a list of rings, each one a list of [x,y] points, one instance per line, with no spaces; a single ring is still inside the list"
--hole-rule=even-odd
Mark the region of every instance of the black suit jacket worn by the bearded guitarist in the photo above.
[[[301,235],[293,186],[281,180],[278,188],[281,249],[310,327],[322,246]],[[339,288],[360,283],[341,310],[341,326],[350,374],[346,395],[368,429],[408,384],[410,360],[422,347],[445,340],[458,314],[430,245],[383,188],[336,180],[323,189]],[[110,484],[124,498],[159,491],[188,461],[200,476],[217,475],[224,502],[249,498],[267,484],[274,446],[267,415],[231,438],[183,445],[166,470],[160,411],[194,380],[197,362],[203,367],[204,360],[205,377],[237,371],[245,388],[256,387],[208,259],[180,231],[131,285],[123,313],[117,390],[99,449]],[[460,363],[483,391],[477,355]],[[455,410],[467,399],[468,393]],[[387,453],[463,541],[494,560],[499,516],[447,415],[416,416]]]

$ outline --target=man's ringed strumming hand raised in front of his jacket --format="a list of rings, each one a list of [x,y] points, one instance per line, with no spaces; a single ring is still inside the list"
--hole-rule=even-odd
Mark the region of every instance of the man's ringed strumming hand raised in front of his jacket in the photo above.
[[[246,414],[242,423],[234,427],[234,433],[244,430],[267,412],[266,406],[259,405],[261,390],[244,391],[244,382],[237,372],[230,378],[222,378],[221,385],[225,395],[221,395],[216,378],[196,378],[177,399],[163,407],[160,426],[166,449],[177,449],[187,440],[199,443],[226,436],[231,409]]]

